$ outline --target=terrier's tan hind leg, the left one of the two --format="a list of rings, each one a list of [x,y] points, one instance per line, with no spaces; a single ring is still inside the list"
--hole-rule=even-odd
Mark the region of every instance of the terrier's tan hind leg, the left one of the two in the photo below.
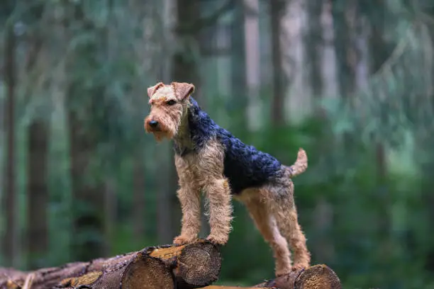
[[[247,198],[240,198],[247,210],[250,217],[257,229],[259,229],[262,237],[271,246],[273,250],[273,256],[275,260],[275,273],[276,276],[282,276],[291,272],[291,253],[288,249],[288,243],[286,239],[282,237],[277,227],[274,216],[269,213],[266,200],[261,200],[257,191],[248,191],[250,196]]]

